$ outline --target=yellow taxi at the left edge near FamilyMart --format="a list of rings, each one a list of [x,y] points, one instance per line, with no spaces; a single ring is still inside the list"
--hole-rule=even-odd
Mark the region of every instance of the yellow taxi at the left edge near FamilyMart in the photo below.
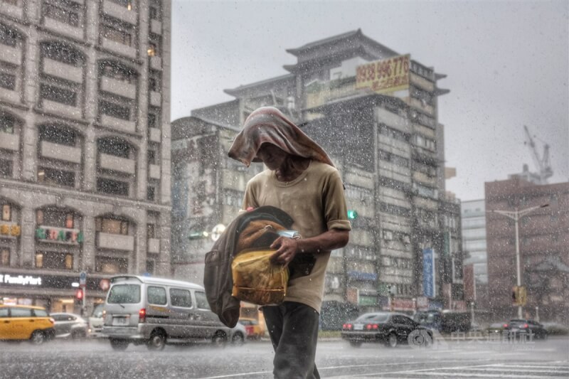
[[[55,336],[54,325],[41,306],[0,304],[0,341],[29,340],[39,345]]]

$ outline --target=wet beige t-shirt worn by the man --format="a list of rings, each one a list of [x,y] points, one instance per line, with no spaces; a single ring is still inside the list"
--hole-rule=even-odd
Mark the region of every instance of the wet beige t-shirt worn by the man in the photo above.
[[[329,164],[311,161],[294,181],[278,181],[275,171],[265,170],[247,183],[243,209],[272,205],[288,213],[303,238],[337,228],[351,230],[344,186],[338,171]],[[302,253],[298,253],[302,254]],[[324,277],[330,252],[315,254],[312,272],[289,281],[285,301],[297,301],[320,311]]]

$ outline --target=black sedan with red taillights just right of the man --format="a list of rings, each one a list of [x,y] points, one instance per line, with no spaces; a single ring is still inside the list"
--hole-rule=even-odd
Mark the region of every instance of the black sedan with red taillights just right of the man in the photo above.
[[[405,314],[391,312],[366,313],[342,326],[341,336],[351,346],[363,342],[384,343],[394,348],[400,343],[413,346],[430,346],[432,331],[421,326]]]

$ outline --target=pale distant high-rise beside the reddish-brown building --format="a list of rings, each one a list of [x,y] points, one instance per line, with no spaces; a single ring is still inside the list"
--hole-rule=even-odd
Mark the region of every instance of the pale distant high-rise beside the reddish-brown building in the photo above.
[[[472,289],[469,297],[478,308],[488,307],[488,266],[486,265],[486,203],[484,199],[462,201],[462,246],[464,247],[464,266],[472,265]],[[465,287],[467,287],[465,283]]]

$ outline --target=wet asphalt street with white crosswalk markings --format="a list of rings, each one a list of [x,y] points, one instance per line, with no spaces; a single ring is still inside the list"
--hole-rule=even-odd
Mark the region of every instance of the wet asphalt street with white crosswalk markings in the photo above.
[[[1,379],[272,378],[267,341],[215,348],[208,344],[112,351],[108,341],[0,343]],[[322,378],[569,378],[569,338],[511,343],[439,339],[430,348],[378,344],[351,347],[319,341]]]

